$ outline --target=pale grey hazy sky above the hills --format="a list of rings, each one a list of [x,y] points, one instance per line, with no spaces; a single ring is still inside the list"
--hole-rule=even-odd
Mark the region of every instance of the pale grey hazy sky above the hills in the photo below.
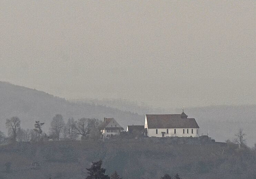
[[[0,81],[158,107],[256,103],[255,0],[0,0]]]

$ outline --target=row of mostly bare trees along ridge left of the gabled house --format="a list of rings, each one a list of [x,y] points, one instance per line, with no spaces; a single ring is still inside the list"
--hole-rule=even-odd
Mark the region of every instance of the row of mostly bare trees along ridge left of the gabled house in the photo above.
[[[6,119],[8,136],[0,131],[0,143],[8,141],[59,141],[77,139],[99,139],[101,136],[99,125],[102,123],[95,118],[69,118],[65,123],[62,115],[56,114],[50,123],[48,134],[42,127],[44,123],[35,121],[34,129],[22,129],[21,120],[18,117]],[[79,138],[80,137],[80,138]]]

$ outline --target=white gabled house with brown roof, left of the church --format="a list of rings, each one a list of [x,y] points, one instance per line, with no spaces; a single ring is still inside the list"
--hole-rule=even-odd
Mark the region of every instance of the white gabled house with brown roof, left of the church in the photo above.
[[[100,125],[99,129],[102,133],[103,139],[109,139],[110,137],[119,135],[122,131],[124,131],[124,128],[121,127],[114,118],[106,117],[104,117],[104,121]]]

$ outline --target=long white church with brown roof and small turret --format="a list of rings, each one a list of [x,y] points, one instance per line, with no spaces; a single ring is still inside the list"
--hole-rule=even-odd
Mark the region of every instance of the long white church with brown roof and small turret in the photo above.
[[[199,126],[194,118],[181,114],[146,114],[148,137],[199,137]]]

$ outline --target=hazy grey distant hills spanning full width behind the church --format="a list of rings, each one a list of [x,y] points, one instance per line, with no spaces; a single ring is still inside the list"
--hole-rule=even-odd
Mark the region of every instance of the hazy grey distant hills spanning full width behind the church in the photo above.
[[[126,125],[143,125],[144,115],[152,113],[181,113],[182,109],[153,108],[144,103],[126,99],[79,99],[68,101],[48,93],[0,82],[0,131],[5,130],[5,120],[18,116],[23,128],[33,128],[34,121],[45,122],[44,131],[55,114],[69,117],[114,117],[124,128]],[[216,141],[233,140],[239,128],[246,133],[249,146],[256,143],[256,105],[206,106],[185,108],[188,117],[196,118],[200,135],[209,135]]]

